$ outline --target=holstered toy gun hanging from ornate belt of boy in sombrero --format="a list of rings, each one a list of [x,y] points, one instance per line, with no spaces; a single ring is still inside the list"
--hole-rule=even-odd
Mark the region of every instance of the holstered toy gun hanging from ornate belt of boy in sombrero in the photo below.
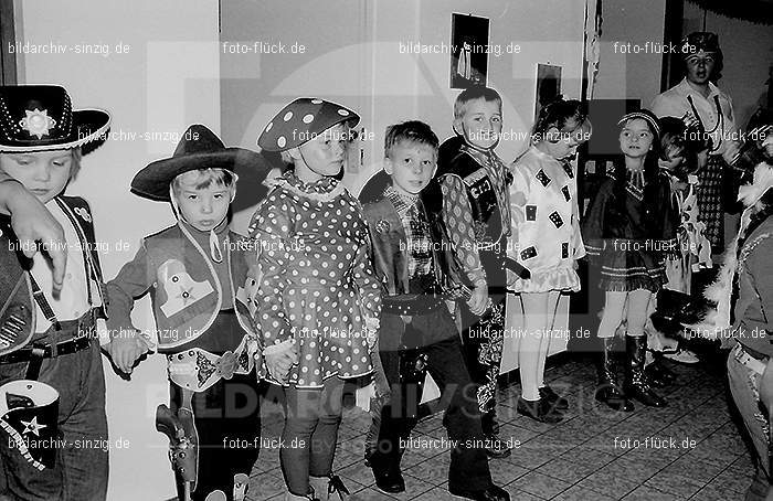
[[[191,501],[195,489],[199,439],[193,414],[181,407],[177,415],[165,404],[156,408],[156,429],[169,438],[169,460],[174,470],[180,501]]]

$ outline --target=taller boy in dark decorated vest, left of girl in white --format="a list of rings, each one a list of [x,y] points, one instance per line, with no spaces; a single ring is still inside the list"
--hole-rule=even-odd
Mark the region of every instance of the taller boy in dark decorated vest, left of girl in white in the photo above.
[[[473,295],[462,306],[465,360],[478,383],[478,405],[491,457],[510,454],[497,437],[496,390],[505,330],[505,247],[510,235],[508,171],[494,152],[502,127],[501,97],[488,87],[463,90],[454,104],[454,131],[438,152],[436,184],[448,228]],[[440,193],[437,193],[440,192]],[[489,301],[490,299],[490,301]]]

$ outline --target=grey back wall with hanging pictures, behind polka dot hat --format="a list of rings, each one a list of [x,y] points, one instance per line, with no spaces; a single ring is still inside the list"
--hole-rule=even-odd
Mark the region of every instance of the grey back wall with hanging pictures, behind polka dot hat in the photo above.
[[[335,0],[308,12],[301,0],[260,4],[233,0],[222,6],[223,42],[300,43],[305,54],[231,54],[221,56],[223,137],[254,147],[260,130],[276,110],[297,96],[318,95],[353,107],[374,132],[366,141],[364,169],[346,178],[354,189],[380,168],[386,125],[422,119],[445,139],[452,134],[448,88],[449,54],[401,54],[400,42],[451,43],[451,13],[490,19],[490,43],[521,45],[520,54],[489,56],[489,85],[505,100],[505,129],[523,134],[534,109],[537,63],[563,66],[563,90],[580,96],[582,0]],[[271,15],[267,15],[271,13]],[[512,160],[523,141],[502,141],[498,152]],[[243,230],[252,209],[235,217]]]

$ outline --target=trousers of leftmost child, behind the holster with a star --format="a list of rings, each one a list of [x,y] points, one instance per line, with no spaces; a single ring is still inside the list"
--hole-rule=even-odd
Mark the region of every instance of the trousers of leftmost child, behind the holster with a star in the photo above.
[[[76,321],[61,323],[55,342],[77,331]],[[27,362],[0,364],[0,385],[23,380],[27,366]],[[109,443],[99,344],[94,339],[86,350],[44,359],[38,381],[59,392],[59,433],[64,447],[56,450],[53,468],[39,471],[0,433],[0,475],[6,490],[0,499],[4,494],[23,501],[105,500]]]

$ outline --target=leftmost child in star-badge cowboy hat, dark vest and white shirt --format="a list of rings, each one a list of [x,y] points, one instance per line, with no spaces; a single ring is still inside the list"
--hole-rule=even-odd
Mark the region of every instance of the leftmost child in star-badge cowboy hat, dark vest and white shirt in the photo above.
[[[23,270],[34,298],[25,292],[27,301],[11,301],[14,311],[0,311],[0,499],[104,500],[107,492],[107,448],[74,446],[107,440],[95,335],[106,300],[91,209],[64,190],[81,148],[109,120],[103,110],[73,110],[60,86],[0,87],[0,170],[61,224],[67,256],[57,284],[50,255],[24,257],[10,218],[0,220],[3,275]]]

